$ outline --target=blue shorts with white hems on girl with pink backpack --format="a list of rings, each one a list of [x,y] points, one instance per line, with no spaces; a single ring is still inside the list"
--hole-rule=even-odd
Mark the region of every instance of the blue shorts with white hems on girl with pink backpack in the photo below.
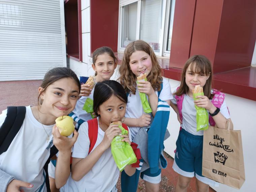
[[[175,172],[185,177],[196,177],[207,185],[219,186],[218,182],[202,175],[203,135],[193,135],[182,129],[176,141],[176,146],[172,166]]]

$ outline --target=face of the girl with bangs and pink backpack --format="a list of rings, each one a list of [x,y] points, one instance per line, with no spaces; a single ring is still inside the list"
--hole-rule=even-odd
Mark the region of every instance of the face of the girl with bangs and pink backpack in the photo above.
[[[191,69],[191,64],[188,66],[186,70],[186,75],[185,75],[185,82],[189,88],[188,94],[191,96],[193,95],[192,89],[195,88],[196,85],[200,85],[203,87],[209,78],[209,75],[205,75],[204,73],[195,73],[195,69]]]

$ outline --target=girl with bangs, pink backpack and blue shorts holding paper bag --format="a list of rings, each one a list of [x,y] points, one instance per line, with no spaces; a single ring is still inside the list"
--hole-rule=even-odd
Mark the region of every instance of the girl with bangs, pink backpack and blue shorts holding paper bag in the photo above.
[[[177,149],[173,170],[179,173],[176,191],[187,191],[190,180],[196,177],[197,191],[209,191],[209,185],[219,186],[213,180],[202,175],[203,131],[197,131],[196,109],[203,107],[209,112],[209,123],[225,129],[227,120],[231,123],[225,101],[225,94],[212,89],[212,66],[202,55],[190,57],[183,68],[181,85],[174,93],[173,103],[177,104],[178,119],[181,130],[176,142]],[[193,99],[195,86],[203,87],[203,96]],[[231,126],[232,127],[232,126]]]

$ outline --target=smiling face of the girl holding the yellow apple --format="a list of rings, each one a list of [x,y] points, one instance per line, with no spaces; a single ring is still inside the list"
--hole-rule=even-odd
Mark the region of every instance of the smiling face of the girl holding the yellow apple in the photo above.
[[[43,88],[39,87],[39,93],[42,91]],[[40,111],[55,119],[66,116],[75,108],[78,94],[79,88],[74,79],[61,78],[41,93],[40,97],[43,103]]]

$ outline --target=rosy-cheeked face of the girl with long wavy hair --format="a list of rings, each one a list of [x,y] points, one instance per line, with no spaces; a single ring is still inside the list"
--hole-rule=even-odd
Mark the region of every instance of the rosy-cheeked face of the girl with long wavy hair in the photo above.
[[[129,65],[135,76],[139,76],[141,73],[146,73],[148,75],[152,69],[150,55],[144,51],[133,52],[130,56]]]

